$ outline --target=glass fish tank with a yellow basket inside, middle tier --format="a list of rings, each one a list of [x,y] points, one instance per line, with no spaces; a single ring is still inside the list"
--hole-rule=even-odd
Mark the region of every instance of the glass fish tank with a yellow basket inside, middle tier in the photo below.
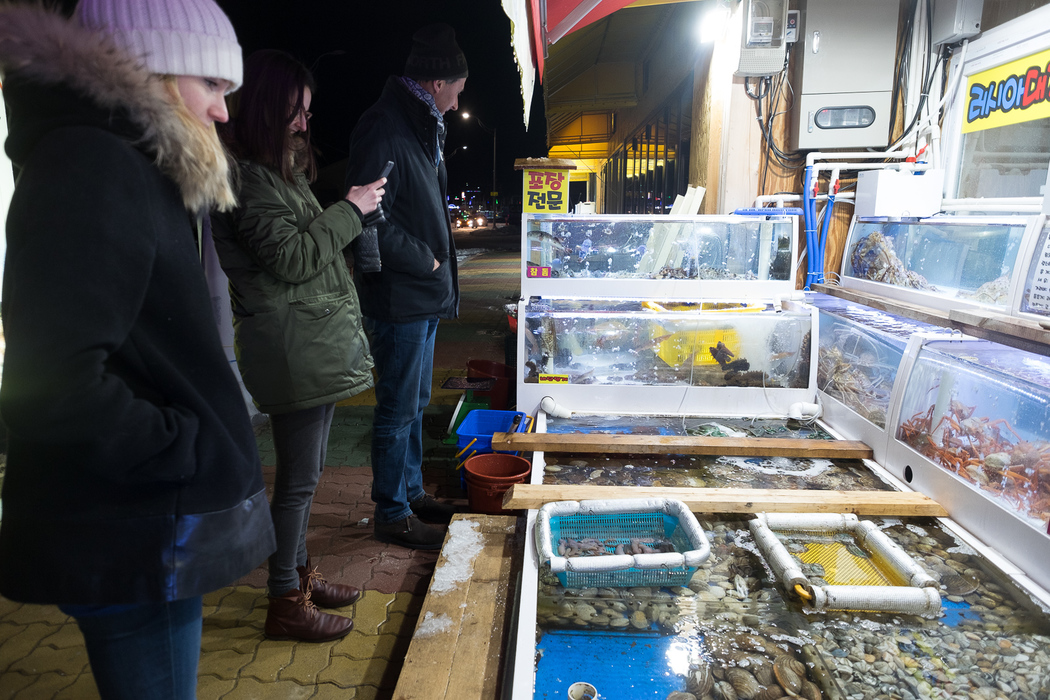
[[[532,298],[524,382],[806,387],[812,314],[760,302]]]

